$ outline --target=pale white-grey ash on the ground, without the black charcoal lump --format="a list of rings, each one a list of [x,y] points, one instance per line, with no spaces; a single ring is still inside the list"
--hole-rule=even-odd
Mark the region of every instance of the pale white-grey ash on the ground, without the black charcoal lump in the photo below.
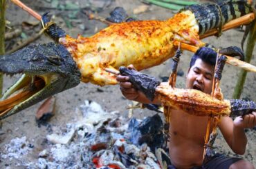
[[[30,161],[22,157],[31,150],[26,137],[14,139],[6,145],[8,153],[2,158],[17,157],[21,166],[31,169],[109,168],[109,165],[132,169],[138,166],[159,168],[156,157],[146,144],[137,147],[127,141],[128,123],[128,119],[118,112],[106,112],[98,103],[85,101],[77,110],[75,123],[68,123],[64,130],[55,130],[46,136],[49,143],[39,152],[38,159]],[[97,149],[98,143],[104,148]],[[93,163],[95,157],[99,159],[98,166]]]

